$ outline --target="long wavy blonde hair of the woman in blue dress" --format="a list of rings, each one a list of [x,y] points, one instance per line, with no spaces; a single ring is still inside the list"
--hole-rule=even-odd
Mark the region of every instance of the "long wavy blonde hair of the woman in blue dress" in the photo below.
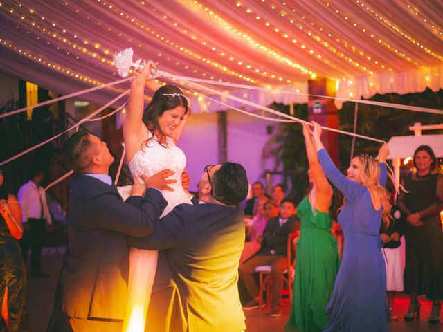
[[[386,228],[388,228],[390,223],[390,208],[392,205],[389,202],[388,191],[379,184],[379,162],[367,154],[356,156],[356,161],[361,169],[361,185],[368,188],[374,209],[378,211],[380,208],[383,208],[381,217]]]

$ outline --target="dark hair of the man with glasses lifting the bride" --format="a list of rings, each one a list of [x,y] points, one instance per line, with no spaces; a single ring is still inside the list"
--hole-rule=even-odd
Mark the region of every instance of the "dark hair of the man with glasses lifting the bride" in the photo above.
[[[248,177],[244,167],[237,163],[224,163],[213,175],[213,197],[230,206],[237,206],[248,194]]]

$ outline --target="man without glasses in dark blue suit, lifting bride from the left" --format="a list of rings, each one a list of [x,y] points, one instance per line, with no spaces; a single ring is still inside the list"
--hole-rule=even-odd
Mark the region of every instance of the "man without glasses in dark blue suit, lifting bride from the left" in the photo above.
[[[168,204],[161,192],[134,181],[124,202],[108,175],[114,158],[105,142],[75,133],[65,145],[65,161],[75,172],[69,198],[69,254],[62,308],[77,331],[121,331],[127,298],[129,237],[154,230]],[[147,187],[164,189],[173,172],[150,178]]]

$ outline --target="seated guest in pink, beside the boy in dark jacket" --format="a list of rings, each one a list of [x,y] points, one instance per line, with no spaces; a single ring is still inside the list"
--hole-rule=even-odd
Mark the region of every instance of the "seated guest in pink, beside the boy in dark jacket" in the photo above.
[[[242,266],[243,262],[254,255],[262,246],[263,231],[269,220],[264,212],[264,205],[267,201],[269,201],[269,199],[266,196],[262,196],[258,199],[257,214],[253,218],[252,227],[246,229],[246,237],[248,237],[250,241],[244,243],[242,257],[240,258],[240,266]]]

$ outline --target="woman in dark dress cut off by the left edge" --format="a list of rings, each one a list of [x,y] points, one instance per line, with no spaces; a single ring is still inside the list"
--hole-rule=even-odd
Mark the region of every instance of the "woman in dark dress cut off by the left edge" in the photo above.
[[[0,171],[0,330],[29,330],[26,311],[26,275],[16,239],[23,234],[20,205],[8,190],[8,178]],[[9,203],[6,202],[9,201]]]

